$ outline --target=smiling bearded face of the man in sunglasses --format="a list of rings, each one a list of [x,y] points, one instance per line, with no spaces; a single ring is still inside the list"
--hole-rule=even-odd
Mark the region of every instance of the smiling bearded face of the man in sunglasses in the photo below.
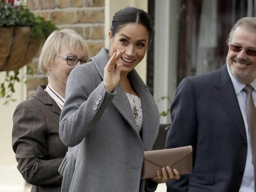
[[[237,27],[230,44],[243,49],[240,52],[228,50],[226,63],[229,71],[238,81],[251,83],[256,78],[256,57],[248,56],[246,49],[256,50],[256,33]]]

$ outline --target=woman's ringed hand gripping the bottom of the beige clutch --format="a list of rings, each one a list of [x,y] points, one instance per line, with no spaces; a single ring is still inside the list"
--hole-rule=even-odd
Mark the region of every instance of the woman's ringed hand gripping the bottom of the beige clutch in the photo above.
[[[156,177],[151,178],[151,180],[156,183],[165,183],[166,181],[170,181],[173,178],[180,179],[179,172],[176,169],[172,171],[169,166],[167,166],[166,168],[161,168],[161,172],[163,177],[160,176],[160,171],[157,171]]]

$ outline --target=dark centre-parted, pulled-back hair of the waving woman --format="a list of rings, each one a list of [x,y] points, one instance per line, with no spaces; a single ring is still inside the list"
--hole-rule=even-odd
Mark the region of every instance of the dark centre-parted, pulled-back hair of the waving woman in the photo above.
[[[153,33],[152,20],[148,13],[135,7],[126,7],[115,13],[112,26],[110,28],[112,37],[125,25],[129,23],[141,24],[148,31],[148,37],[151,39]]]

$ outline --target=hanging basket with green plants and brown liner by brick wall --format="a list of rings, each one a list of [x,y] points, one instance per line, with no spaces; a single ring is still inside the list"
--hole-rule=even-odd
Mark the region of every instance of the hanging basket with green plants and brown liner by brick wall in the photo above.
[[[0,98],[6,99],[4,104],[13,100],[14,83],[20,81],[19,69],[30,63],[41,43],[57,29],[50,21],[35,17],[20,0],[0,1],[0,71],[6,71]],[[29,66],[25,76],[28,74],[33,74]]]

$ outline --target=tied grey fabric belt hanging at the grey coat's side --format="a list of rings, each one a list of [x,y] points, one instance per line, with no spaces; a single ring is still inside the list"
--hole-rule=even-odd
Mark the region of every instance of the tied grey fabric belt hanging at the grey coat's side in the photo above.
[[[72,177],[74,175],[75,164],[76,158],[74,154],[68,151],[59,166],[59,173],[63,176],[61,192],[69,192]]]

